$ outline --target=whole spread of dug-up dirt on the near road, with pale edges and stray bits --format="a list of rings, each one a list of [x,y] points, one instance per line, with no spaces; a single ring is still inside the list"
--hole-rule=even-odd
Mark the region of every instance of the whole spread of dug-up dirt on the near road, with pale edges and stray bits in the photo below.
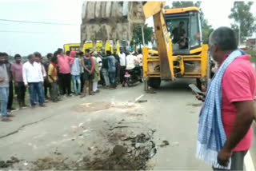
[[[38,158],[35,161],[27,161],[29,165],[22,169],[28,170],[148,170],[154,169],[151,160],[156,155],[157,146],[154,141],[155,129],[142,126],[141,122],[118,119],[118,121],[102,121],[102,129],[97,132],[98,137],[92,143],[84,144],[82,139],[73,139],[74,142],[83,143],[79,145],[78,151],[69,155],[62,153],[56,147],[49,156]],[[117,126],[142,126],[140,129]],[[80,124],[81,125],[81,124]],[[81,134],[78,130],[78,135]],[[95,135],[94,135],[95,136]],[[163,141],[163,143],[166,143]],[[5,166],[5,167],[9,167]],[[22,166],[21,166],[22,167]]]

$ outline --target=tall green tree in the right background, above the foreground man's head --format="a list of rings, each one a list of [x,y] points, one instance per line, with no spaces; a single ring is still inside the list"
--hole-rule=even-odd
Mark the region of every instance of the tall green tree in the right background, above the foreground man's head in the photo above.
[[[240,42],[244,42],[256,30],[254,15],[250,12],[253,4],[254,2],[234,2],[231,9],[229,18],[234,20],[231,27],[237,31]]]

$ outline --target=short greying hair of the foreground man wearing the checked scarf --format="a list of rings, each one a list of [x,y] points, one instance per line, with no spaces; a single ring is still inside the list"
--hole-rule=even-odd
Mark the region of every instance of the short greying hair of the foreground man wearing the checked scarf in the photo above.
[[[218,46],[222,51],[238,49],[238,42],[234,30],[226,26],[219,27],[210,34],[209,44],[210,46]]]

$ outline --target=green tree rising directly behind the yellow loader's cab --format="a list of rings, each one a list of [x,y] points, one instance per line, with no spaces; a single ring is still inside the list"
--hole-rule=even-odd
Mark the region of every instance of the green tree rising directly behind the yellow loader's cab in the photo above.
[[[200,8],[201,2],[173,2],[172,8],[185,8],[190,6],[198,6]],[[203,43],[207,44],[209,41],[210,33],[214,30],[213,27],[209,24],[209,22],[204,17],[202,9],[200,8],[201,12],[201,25],[202,25],[202,40]]]

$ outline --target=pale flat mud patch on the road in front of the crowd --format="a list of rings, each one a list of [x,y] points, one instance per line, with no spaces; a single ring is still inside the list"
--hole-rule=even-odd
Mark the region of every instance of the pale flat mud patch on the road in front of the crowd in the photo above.
[[[111,102],[93,102],[93,103],[82,103],[81,105],[75,105],[72,110],[83,113],[83,112],[96,112],[104,109],[132,109],[136,105],[134,103],[128,102],[128,103],[111,103]]]

